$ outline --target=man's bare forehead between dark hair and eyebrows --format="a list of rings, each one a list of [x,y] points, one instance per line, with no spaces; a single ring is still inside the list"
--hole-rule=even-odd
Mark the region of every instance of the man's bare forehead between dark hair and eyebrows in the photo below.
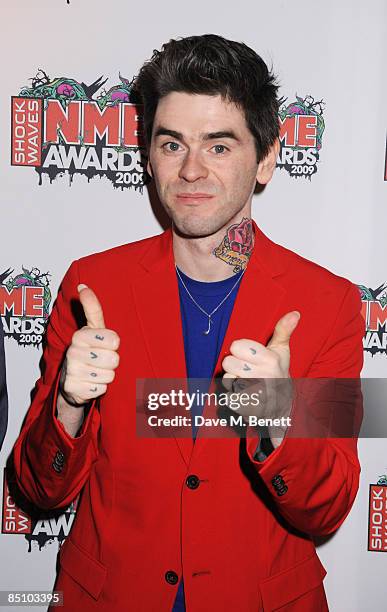
[[[164,126],[181,133],[208,133],[233,128],[248,136],[244,112],[220,95],[173,91],[157,105],[154,128]]]

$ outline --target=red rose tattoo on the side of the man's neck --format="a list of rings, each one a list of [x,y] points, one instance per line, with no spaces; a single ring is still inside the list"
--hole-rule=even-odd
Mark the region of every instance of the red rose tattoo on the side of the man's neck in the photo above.
[[[225,237],[212,253],[229,266],[233,266],[233,272],[237,274],[246,269],[253,248],[253,222],[243,217],[240,223],[234,223],[227,228]]]

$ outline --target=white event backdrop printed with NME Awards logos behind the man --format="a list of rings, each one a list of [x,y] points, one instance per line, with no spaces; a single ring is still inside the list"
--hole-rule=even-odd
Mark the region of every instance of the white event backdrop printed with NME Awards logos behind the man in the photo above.
[[[177,36],[221,34],[273,65],[286,98],[281,152],[273,181],[255,196],[254,218],[274,241],[359,286],[362,376],[386,377],[386,24],[385,0],[4,4],[0,315],[9,425],[1,471],[66,269],[162,229],[144,185],[131,80]],[[361,440],[359,448],[356,503],[318,548],[334,612],[386,609],[387,443]],[[5,481],[1,488],[0,590],[49,590],[76,503],[55,519],[32,519]]]

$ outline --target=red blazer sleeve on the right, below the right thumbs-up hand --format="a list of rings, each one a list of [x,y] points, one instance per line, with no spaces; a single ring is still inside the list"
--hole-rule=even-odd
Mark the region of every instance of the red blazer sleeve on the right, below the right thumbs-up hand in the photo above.
[[[365,327],[360,309],[359,290],[349,283],[329,337],[307,374],[308,379],[326,377],[331,382],[338,378],[351,379],[347,380],[351,392],[344,400],[352,404],[349,408],[357,424],[362,415],[359,376],[363,366]],[[313,390],[311,381],[300,382],[310,383]],[[345,381],[337,382],[345,385]],[[318,385],[315,388],[318,389]],[[310,399],[313,393],[308,396],[313,401]],[[301,400],[296,393],[292,408],[296,415],[297,401]],[[334,410],[341,408],[348,409],[348,405],[337,403],[334,406]],[[256,444],[256,437],[248,435],[248,456],[286,520],[310,535],[335,531],[350,511],[359,486],[356,434],[340,438],[285,436],[262,462],[255,458]]]

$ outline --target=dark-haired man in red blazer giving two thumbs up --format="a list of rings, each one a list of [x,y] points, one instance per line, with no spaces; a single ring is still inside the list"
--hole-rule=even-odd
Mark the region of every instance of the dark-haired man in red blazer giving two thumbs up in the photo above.
[[[327,610],[310,536],[351,508],[356,441],[137,437],[136,379],[356,378],[358,291],[251,220],[279,148],[277,86],[253,50],[171,40],[136,87],[172,228],[70,266],[14,449],[37,505],[83,489],[60,552],[64,610]]]

